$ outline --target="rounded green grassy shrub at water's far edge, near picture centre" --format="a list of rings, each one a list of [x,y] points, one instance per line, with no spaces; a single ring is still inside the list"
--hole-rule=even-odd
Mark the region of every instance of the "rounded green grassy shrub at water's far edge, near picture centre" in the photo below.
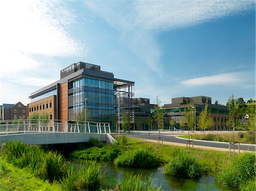
[[[146,148],[138,148],[136,150],[128,150],[119,155],[114,161],[115,164],[122,167],[156,167],[158,160],[150,150]]]

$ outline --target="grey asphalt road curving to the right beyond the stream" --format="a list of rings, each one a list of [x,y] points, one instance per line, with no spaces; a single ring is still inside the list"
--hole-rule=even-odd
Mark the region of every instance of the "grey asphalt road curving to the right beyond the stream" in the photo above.
[[[138,133],[138,134],[126,134],[126,135],[127,137],[137,137],[137,138],[157,140],[157,137],[159,134],[158,133],[151,133],[151,134]],[[186,144],[186,140],[176,138],[177,135],[181,135],[181,134],[160,134],[160,137],[163,137],[163,141]],[[199,146],[207,146],[207,147],[229,148],[229,143],[224,143],[224,142],[193,141],[193,144],[199,145]],[[233,146],[232,146],[232,149],[233,149]],[[235,145],[235,149],[238,149],[238,144]],[[255,151],[255,145],[240,144],[240,149],[247,150],[247,151],[248,150]]]

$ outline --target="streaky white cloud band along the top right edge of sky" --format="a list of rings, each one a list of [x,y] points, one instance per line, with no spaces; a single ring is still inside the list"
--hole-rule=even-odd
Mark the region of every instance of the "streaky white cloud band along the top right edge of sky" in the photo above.
[[[255,1],[139,1],[137,25],[148,29],[194,26],[255,7]]]

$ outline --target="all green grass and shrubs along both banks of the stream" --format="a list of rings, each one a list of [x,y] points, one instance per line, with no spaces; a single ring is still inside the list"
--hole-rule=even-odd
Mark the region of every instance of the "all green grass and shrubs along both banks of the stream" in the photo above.
[[[0,186],[9,188],[5,190],[22,190],[22,185],[23,188],[31,190],[52,191],[126,191],[131,188],[142,191],[162,190],[160,186],[154,186],[150,178],[142,181],[141,175],[134,175],[136,179],[128,175],[119,184],[106,188],[102,184],[104,172],[101,171],[101,164],[94,160],[98,159],[124,167],[151,168],[163,165],[164,173],[187,179],[196,179],[211,173],[217,175],[217,180],[223,185],[241,190],[251,190],[253,186],[255,188],[254,154],[230,157],[228,152],[200,149],[187,152],[183,147],[157,147],[155,143],[125,136],[117,138],[117,141],[114,145],[102,145],[92,140],[86,148],[73,151],[72,158],[68,160],[57,151],[48,151],[40,146],[27,146],[21,142],[7,142],[2,145],[0,156]],[[71,162],[74,160],[76,163]],[[19,177],[19,173],[22,176]]]

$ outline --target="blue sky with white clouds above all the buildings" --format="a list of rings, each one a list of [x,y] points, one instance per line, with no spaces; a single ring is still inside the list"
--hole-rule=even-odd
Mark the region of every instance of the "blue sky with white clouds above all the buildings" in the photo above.
[[[15,6],[14,6],[15,5]],[[255,100],[255,1],[1,1],[0,105],[79,61],[135,82],[135,97]]]

